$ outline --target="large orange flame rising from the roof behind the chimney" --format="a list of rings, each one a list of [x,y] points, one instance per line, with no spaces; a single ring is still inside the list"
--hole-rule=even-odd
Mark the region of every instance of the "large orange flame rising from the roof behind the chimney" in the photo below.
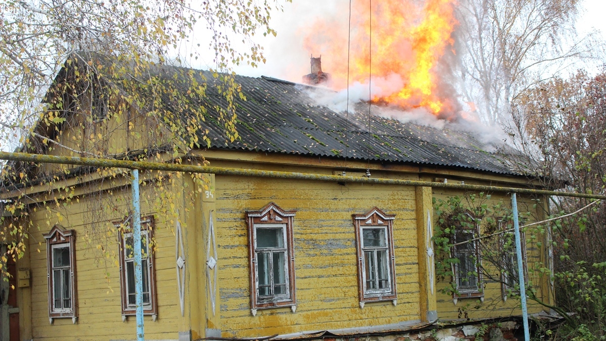
[[[458,102],[451,91],[444,90],[450,87],[441,75],[447,73],[444,59],[454,54],[452,33],[458,24],[453,15],[455,1],[425,0],[419,6],[418,1],[375,0],[370,8],[369,0],[353,0],[350,84],[347,62],[332,59],[347,53],[347,22],[345,27],[336,22],[313,24],[305,47],[322,53],[322,69],[331,73],[333,87],[338,90],[354,82],[368,84],[370,75],[371,84],[381,87],[371,101],[403,109],[425,107],[435,115],[451,118]]]

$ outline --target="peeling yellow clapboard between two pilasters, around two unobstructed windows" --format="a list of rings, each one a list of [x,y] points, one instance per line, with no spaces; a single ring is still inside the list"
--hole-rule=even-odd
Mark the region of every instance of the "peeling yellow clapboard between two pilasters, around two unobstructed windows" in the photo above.
[[[216,177],[222,331],[251,337],[318,329],[383,325],[419,319],[415,189],[313,181]],[[248,241],[244,212],[270,201],[296,210],[296,312],[250,313]],[[398,305],[359,307],[358,269],[351,214],[377,206],[396,214],[393,226]]]

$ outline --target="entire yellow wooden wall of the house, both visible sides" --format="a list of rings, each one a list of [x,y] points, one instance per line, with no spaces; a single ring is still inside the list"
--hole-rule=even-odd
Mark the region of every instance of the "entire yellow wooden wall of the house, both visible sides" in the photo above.
[[[315,174],[331,174],[334,167],[317,165],[295,166],[247,161],[213,160],[213,166],[260,168],[268,170],[303,171]],[[414,172],[388,172],[372,170],[373,177],[419,179]],[[470,174],[470,177],[473,174]],[[145,175],[142,175],[144,178]],[[288,334],[301,331],[360,328],[389,325],[391,323],[415,322],[425,319],[427,307],[427,285],[419,283],[418,257],[424,252],[418,231],[419,189],[415,187],[338,184],[307,180],[285,180],[274,178],[235,177],[217,175],[211,185],[213,203],[202,202],[199,196],[184,193],[204,192],[210,187],[196,187],[188,176],[178,178],[167,186],[163,197],[161,191],[144,189],[142,214],[155,216],[156,279],[158,288],[159,315],[156,322],[145,317],[147,339],[175,340],[179,331],[191,331],[191,338],[205,336],[205,328],[216,329],[224,337],[255,337],[273,334]],[[421,180],[431,181],[426,178]],[[181,182],[179,182],[181,181]],[[467,182],[467,180],[466,180]],[[478,182],[478,184],[485,184]],[[94,184],[88,184],[93,186]],[[210,185],[209,185],[210,186]],[[419,187],[421,188],[421,187]],[[84,191],[80,189],[79,191]],[[99,223],[119,220],[128,212],[130,188],[125,184],[114,189],[112,200],[100,202],[98,198],[84,197],[72,200],[67,206],[62,203],[47,205],[32,212],[35,238],[30,238],[30,263],[32,269],[32,336],[34,339],[98,339],[129,340],[135,338],[135,321],[129,317],[122,322],[119,295],[119,270],[116,235],[107,234],[98,240],[92,237],[92,227]],[[86,191],[84,191],[86,192]],[[181,193],[181,194],[180,194]],[[431,191],[427,193],[431,196]],[[435,197],[460,195],[455,191],[433,191]],[[164,194],[165,195],[165,194]],[[493,196],[493,200],[508,196]],[[185,316],[181,317],[175,271],[175,221],[164,211],[153,209],[152,201],[165,201],[171,209],[178,209],[183,216],[188,277],[185,294]],[[297,211],[294,219],[295,274],[297,309],[260,309],[256,316],[250,312],[250,274],[248,272],[248,232],[245,212],[258,211],[271,201],[282,209]],[[520,198],[520,210],[531,207],[528,198]],[[112,209],[99,211],[99,205]],[[526,205],[526,206],[524,206]],[[530,206],[529,206],[530,205]],[[398,304],[391,302],[367,303],[359,306],[358,269],[355,232],[352,214],[364,214],[374,207],[387,214],[395,214],[393,234],[395,240],[396,285]],[[431,205],[428,205],[430,208]],[[94,214],[97,212],[97,214]],[[99,214],[102,212],[102,214]],[[203,212],[203,213],[202,213]],[[218,245],[218,308],[212,316],[209,303],[206,261],[206,236],[208,213],[215,218]],[[62,221],[59,221],[59,213]],[[56,319],[48,324],[48,290],[46,279],[46,249],[42,234],[56,223],[65,229],[75,229],[76,262],[78,269],[79,320]],[[99,225],[101,226],[101,225]],[[201,229],[198,229],[201,228]],[[103,232],[102,230],[101,232]],[[41,244],[38,244],[42,241]],[[96,249],[102,245],[102,250]],[[39,249],[40,252],[37,252]],[[532,248],[528,248],[532,251]],[[104,256],[103,250],[109,253]],[[535,250],[536,251],[536,250]],[[535,252],[532,251],[532,252]],[[539,252],[540,253],[540,252]],[[533,256],[534,257],[534,256]],[[539,259],[539,258],[536,258]],[[107,274],[107,279],[105,275]],[[444,287],[438,283],[437,290]],[[431,300],[432,297],[429,297]],[[424,302],[424,303],[422,303]],[[467,306],[468,317],[497,317],[519,314],[516,302],[501,300],[499,283],[487,283],[485,301],[459,300],[454,305],[451,297],[437,295],[438,317],[458,318],[458,309]],[[473,309],[474,306],[478,309]],[[429,310],[435,309],[430,308]],[[533,306],[531,312],[540,308]]]

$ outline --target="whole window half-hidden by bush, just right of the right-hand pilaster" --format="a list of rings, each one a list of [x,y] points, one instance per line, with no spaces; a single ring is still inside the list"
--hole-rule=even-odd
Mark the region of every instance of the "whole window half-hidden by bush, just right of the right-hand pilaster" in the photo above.
[[[453,246],[452,249],[453,258],[459,260],[453,264],[454,286],[458,291],[458,294],[454,294],[454,299],[484,296],[481,291],[479,245],[478,241],[473,240],[479,236],[479,226],[470,214],[465,214],[465,220],[464,224],[459,221],[454,230],[454,244],[468,241]]]

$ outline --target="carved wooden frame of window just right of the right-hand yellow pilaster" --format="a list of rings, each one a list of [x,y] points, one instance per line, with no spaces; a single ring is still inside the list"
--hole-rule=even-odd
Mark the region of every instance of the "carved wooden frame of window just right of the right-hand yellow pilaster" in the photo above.
[[[471,235],[473,236],[472,238],[478,238],[480,236],[480,226],[479,226],[479,220],[474,218],[470,213],[466,213],[468,215],[468,217],[470,217],[471,219],[473,219],[474,221],[474,228],[473,229],[468,229],[468,228],[462,228],[462,227],[457,227],[454,230],[454,240],[456,241],[456,233],[458,231],[462,231],[463,233],[471,233]],[[484,284],[483,284],[483,278],[482,278],[482,254],[480,252],[480,248],[479,248],[479,243],[478,241],[471,241],[471,243],[473,243],[473,249],[476,255],[476,260],[475,260],[475,268],[476,268],[476,288],[475,289],[468,289],[465,288],[463,291],[459,290],[459,276],[458,276],[458,268],[459,268],[459,264],[458,263],[453,263],[452,266],[452,271],[453,271],[453,284],[454,284],[454,288],[456,288],[456,291],[458,292],[453,292],[453,300],[454,300],[454,304],[457,303],[458,299],[480,299],[482,301],[484,301]],[[457,247],[453,246],[451,249],[451,253],[452,253],[452,258],[458,258],[457,257]]]

